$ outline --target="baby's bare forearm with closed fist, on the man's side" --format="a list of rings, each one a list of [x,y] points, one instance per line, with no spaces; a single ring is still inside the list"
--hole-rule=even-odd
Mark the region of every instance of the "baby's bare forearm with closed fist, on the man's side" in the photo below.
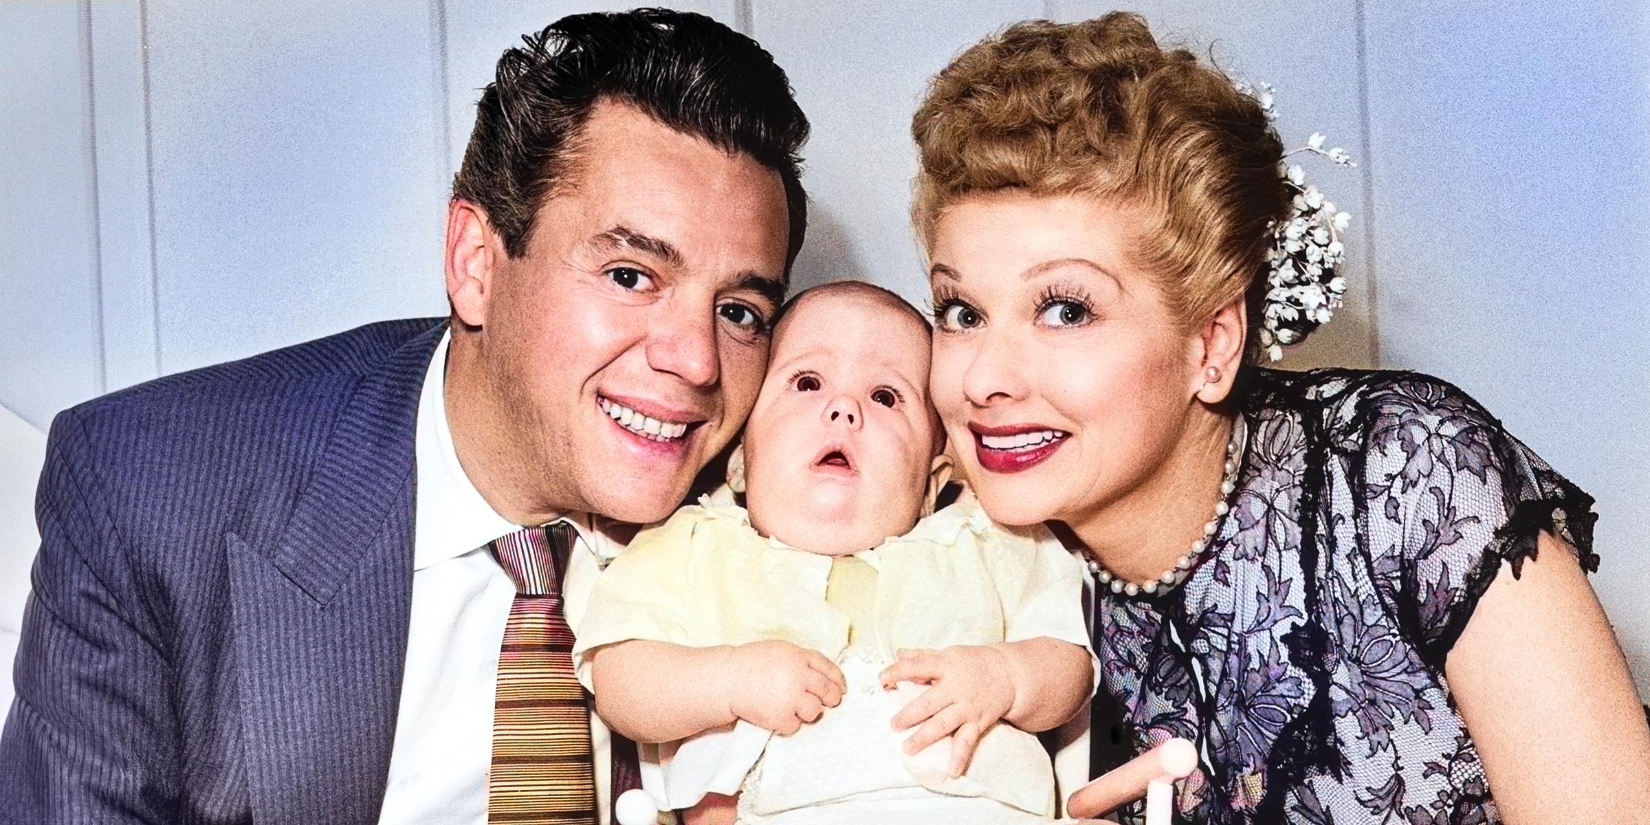
[[[670,742],[746,719],[779,734],[837,706],[848,683],[790,642],[683,647],[630,640],[584,653],[596,713],[639,742]]]

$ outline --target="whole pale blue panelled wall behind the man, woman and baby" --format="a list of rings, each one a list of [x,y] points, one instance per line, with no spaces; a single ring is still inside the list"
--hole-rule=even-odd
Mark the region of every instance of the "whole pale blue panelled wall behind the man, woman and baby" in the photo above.
[[[0,2],[0,404],[43,431],[130,383],[444,312],[441,226],[498,53],[620,2]],[[982,35],[1092,0],[696,0],[813,122],[795,280],[921,300],[909,117]],[[1442,375],[1599,497],[1594,579],[1650,688],[1650,0],[1142,0],[1160,40],[1277,86],[1355,213],[1355,289],[1290,361]],[[13,426],[15,424],[15,426]],[[0,441],[0,518],[38,442]],[[28,525],[0,521],[0,642]],[[0,645],[3,647],[3,645]],[[5,650],[0,657],[10,658]]]

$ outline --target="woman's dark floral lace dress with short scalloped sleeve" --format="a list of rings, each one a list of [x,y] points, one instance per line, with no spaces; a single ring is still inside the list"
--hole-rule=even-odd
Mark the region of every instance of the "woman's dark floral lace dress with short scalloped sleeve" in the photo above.
[[[1261,370],[1231,513],[1193,574],[1104,594],[1096,650],[1135,744],[1198,742],[1181,820],[1495,823],[1444,660],[1503,561],[1592,498],[1454,386]]]

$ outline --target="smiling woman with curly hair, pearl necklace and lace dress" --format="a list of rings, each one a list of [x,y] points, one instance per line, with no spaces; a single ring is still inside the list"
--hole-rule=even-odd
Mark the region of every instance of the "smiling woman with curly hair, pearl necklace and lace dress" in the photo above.
[[[1114,13],[975,45],[912,132],[959,464],[1091,559],[1134,746],[1198,744],[1181,815],[1650,817],[1592,500],[1447,383],[1252,366],[1327,320],[1267,285],[1304,190],[1256,97]]]

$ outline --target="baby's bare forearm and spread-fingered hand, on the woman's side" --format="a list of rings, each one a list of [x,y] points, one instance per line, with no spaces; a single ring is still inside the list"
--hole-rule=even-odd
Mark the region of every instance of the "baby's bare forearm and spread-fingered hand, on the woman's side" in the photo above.
[[[901,650],[883,672],[883,685],[931,685],[894,714],[894,729],[921,724],[906,752],[954,736],[950,774],[962,776],[985,731],[1006,719],[1021,731],[1046,731],[1071,719],[1089,701],[1094,665],[1081,645],[1038,637],[944,650]]]

